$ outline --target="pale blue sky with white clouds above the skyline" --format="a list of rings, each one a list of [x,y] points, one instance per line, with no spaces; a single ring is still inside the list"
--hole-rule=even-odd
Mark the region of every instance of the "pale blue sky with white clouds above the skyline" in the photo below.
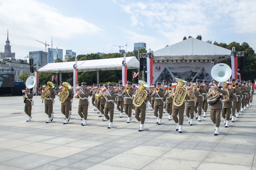
[[[0,51],[9,40],[16,58],[53,48],[79,54],[133,51],[144,42],[159,50],[202,36],[203,41],[236,41],[256,49],[253,0],[0,0]],[[63,56],[64,57],[64,56]]]

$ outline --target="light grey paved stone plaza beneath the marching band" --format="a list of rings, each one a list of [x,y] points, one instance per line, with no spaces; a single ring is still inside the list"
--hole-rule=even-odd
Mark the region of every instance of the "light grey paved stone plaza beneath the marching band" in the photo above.
[[[4,170],[123,170],[123,169],[225,169],[256,170],[256,103],[253,100],[229,128],[221,118],[220,132],[214,136],[214,125],[207,117],[188,124],[184,114],[183,132],[175,131],[176,124],[163,114],[162,124],[150,107],[146,110],[144,131],[127,115],[119,118],[115,109],[113,128],[103,122],[90,104],[87,125],[81,126],[77,114],[78,99],[72,104],[68,124],[60,112],[56,98],[54,119],[48,116],[40,96],[34,96],[31,122],[24,112],[23,97],[0,97],[0,169]],[[91,98],[89,98],[91,101]]]

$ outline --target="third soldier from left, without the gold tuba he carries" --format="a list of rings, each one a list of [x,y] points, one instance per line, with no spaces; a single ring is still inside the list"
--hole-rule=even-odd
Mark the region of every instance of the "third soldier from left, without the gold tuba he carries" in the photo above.
[[[69,110],[70,110],[70,107],[71,107],[71,100],[74,98],[74,95],[73,95],[73,90],[71,89],[67,89],[69,91],[69,95],[68,97],[65,98],[65,102],[61,103],[61,113],[63,115],[65,115],[65,122],[63,124],[68,124],[69,122],[69,119],[70,119],[70,115],[69,115]],[[58,96],[60,96],[60,93],[58,93]]]

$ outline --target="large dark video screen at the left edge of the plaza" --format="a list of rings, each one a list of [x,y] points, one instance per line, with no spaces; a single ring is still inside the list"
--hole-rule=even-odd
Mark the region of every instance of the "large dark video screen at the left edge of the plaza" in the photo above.
[[[0,72],[0,87],[14,87],[14,72]]]

